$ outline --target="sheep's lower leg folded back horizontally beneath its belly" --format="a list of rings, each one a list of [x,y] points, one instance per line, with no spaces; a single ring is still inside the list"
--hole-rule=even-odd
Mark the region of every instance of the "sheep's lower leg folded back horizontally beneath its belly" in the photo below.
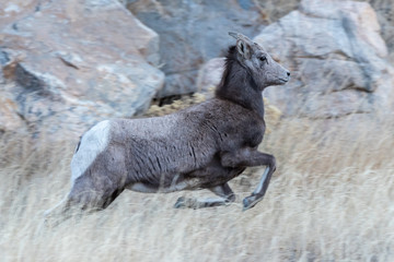
[[[209,190],[220,198],[198,200],[182,196],[176,201],[174,207],[196,210],[202,207],[228,205],[235,201],[234,192],[231,190],[228,183],[210,188]]]

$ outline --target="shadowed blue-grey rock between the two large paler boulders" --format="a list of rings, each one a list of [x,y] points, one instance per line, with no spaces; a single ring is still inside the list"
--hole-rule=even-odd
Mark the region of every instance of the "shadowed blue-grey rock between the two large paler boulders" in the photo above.
[[[165,86],[159,97],[196,92],[200,64],[225,51],[229,31],[254,35],[263,17],[253,1],[129,0],[128,9],[160,35]]]

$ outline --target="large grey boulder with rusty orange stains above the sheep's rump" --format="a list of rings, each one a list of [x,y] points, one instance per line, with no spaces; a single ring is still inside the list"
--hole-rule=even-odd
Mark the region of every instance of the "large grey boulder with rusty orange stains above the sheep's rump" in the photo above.
[[[18,128],[15,118],[33,133],[80,135],[130,117],[162,87],[158,62],[159,36],[115,0],[9,1],[0,8],[0,94],[9,102],[0,129]]]

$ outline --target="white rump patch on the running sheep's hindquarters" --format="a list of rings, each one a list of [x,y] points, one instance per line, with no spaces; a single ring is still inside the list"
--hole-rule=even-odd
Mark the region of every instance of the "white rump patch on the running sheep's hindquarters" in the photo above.
[[[83,134],[79,148],[71,160],[71,186],[108,145],[109,128],[109,121],[105,120]]]

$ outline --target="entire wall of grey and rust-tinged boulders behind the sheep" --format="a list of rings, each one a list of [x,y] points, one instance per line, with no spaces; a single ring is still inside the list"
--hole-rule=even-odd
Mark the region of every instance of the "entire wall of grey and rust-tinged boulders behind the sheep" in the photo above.
[[[102,119],[146,111],[153,97],[208,94],[233,44],[228,31],[254,37],[292,71],[266,93],[285,116],[389,110],[393,8],[369,2],[8,1],[0,131],[78,138]]]

